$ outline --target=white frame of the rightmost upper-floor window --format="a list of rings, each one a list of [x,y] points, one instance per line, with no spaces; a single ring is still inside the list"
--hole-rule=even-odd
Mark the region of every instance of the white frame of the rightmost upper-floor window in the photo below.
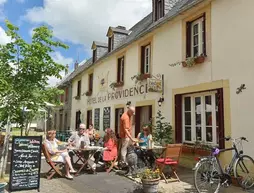
[[[204,44],[204,37],[203,37],[203,21],[204,21],[204,18],[201,17],[195,21],[193,21],[191,23],[191,56],[192,57],[195,57],[194,56],[194,36],[196,34],[194,34],[194,26],[195,25],[198,25],[198,54],[197,56],[200,56],[204,50],[203,50],[203,44]]]

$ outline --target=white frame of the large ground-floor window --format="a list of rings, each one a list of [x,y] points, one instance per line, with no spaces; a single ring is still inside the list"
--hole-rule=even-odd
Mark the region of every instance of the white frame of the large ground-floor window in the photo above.
[[[185,143],[195,143],[196,140],[196,123],[195,123],[195,97],[201,97],[201,141],[207,144],[218,145],[217,143],[217,125],[216,125],[216,93],[217,91],[187,94],[182,97],[182,139]],[[205,118],[205,97],[211,96],[212,101],[212,142],[208,142],[206,139],[206,118]],[[191,141],[185,140],[185,106],[184,99],[186,97],[191,97]]]

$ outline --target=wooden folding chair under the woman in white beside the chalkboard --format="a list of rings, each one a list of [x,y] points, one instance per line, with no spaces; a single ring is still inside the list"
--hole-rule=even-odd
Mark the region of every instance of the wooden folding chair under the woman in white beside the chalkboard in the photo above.
[[[55,174],[60,175],[63,177],[62,172],[60,171],[60,168],[64,166],[63,162],[53,162],[50,158],[50,154],[48,152],[48,148],[45,144],[42,144],[42,152],[45,156],[45,160],[47,164],[51,167],[50,170],[47,172],[46,176],[48,180],[51,180]]]

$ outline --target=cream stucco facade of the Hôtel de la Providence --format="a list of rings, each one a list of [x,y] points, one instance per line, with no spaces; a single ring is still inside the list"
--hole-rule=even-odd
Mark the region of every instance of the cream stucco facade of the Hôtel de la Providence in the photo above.
[[[134,106],[152,105],[152,117],[158,109],[175,129],[175,95],[196,93],[214,89],[223,89],[224,135],[232,137],[246,136],[249,144],[244,146],[246,154],[254,156],[254,66],[252,64],[254,26],[253,0],[205,0],[191,9],[174,17],[170,21],[147,33],[142,38],[120,51],[95,62],[72,81],[72,96],[76,96],[77,82],[81,83],[80,100],[72,101],[71,128],[75,128],[75,114],[81,111],[81,121],[86,123],[87,110],[100,108],[100,131],[103,131],[103,108],[111,107],[110,127],[115,128],[115,109],[124,107],[131,101]],[[182,61],[186,55],[185,23],[206,13],[206,54],[205,62],[190,68],[169,64]],[[106,34],[106,32],[105,32]],[[140,47],[150,43],[152,75],[164,74],[165,101],[159,107],[157,101],[161,93],[141,93],[119,99],[108,98],[110,93],[135,87],[131,77],[139,73]],[[124,86],[112,90],[109,85],[117,78],[117,59],[125,57]],[[93,73],[92,96],[84,93],[88,90],[88,75]],[[105,79],[104,90],[100,88]],[[146,81],[142,82],[145,85]],[[245,84],[247,89],[236,94],[236,89]],[[140,88],[140,85],[137,85]],[[133,91],[134,92],[134,91]],[[102,97],[102,98],[100,98]],[[106,100],[104,100],[106,97]],[[96,98],[96,99],[95,99]],[[100,99],[99,99],[100,98]],[[96,102],[94,101],[96,100]],[[98,100],[101,100],[98,102]],[[90,101],[90,102],[89,102]],[[226,143],[226,146],[230,144]]]

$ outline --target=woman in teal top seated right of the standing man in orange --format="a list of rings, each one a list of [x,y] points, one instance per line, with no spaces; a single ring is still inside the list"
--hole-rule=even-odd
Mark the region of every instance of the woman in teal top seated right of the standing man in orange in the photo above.
[[[148,141],[152,140],[149,125],[143,125],[142,131],[138,134],[137,138],[141,140],[138,144],[140,147],[148,147]],[[155,158],[151,150],[137,149],[136,153],[139,159],[141,159],[146,165],[150,165],[150,167],[153,166]]]

